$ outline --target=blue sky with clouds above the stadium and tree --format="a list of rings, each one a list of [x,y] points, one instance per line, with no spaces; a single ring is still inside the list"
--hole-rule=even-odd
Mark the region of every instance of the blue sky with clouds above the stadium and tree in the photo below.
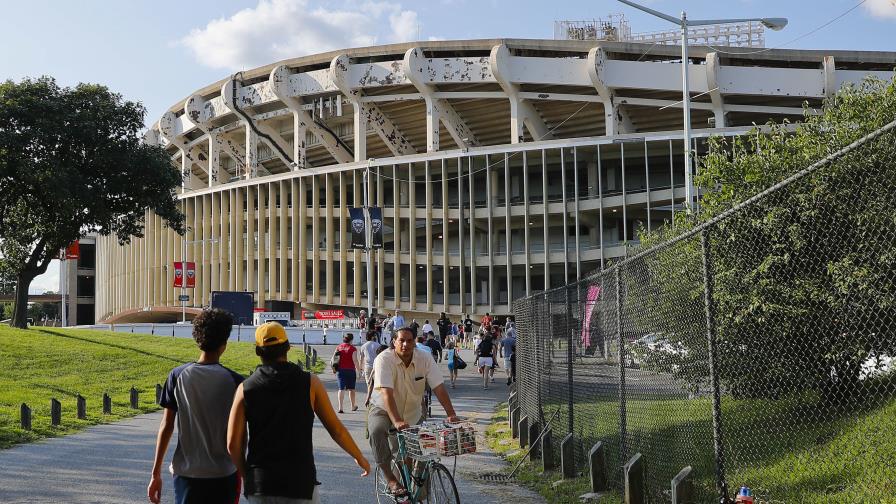
[[[766,47],[896,51],[896,0],[641,3],[674,16],[684,10],[691,19],[788,18],[784,30],[766,31]],[[0,79],[50,75],[64,86],[100,83],[142,102],[147,125],[238,70],[306,54],[413,40],[550,39],[555,20],[612,13],[624,13],[633,32],[673,26],[613,0],[0,0],[0,5]],[[31,291],[57,289],[53,264]]]

